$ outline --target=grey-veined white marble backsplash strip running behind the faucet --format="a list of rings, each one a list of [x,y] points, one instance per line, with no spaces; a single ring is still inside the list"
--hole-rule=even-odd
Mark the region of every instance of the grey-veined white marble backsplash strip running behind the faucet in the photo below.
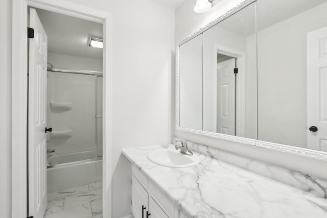
[[[184,140],[173,137],[173,143],[176,140]],[[185,141],[185,140],[184,140]],[[265,163],[258,160],[253,160],[240,155],[232,154],[215,148],[197,144],[192,141],[187,141],[188,147],[191,151],[203,154],[207,157],[215,158],[217,160],[236,165],[244,168],[247,171],[262,175],[264,177],[285,183],[303,191],[308,191],[320,198],[327,199],[327,180],[313,175],[304,174],[292,169],[281,166]],[[177,144],[177,143],[176,143]]]

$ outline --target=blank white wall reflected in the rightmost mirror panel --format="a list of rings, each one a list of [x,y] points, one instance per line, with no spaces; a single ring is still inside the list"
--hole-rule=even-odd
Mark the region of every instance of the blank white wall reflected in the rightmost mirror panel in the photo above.
[[[307,148],[307,33],[326,27],[326,8],[258,26],[258,139]]]

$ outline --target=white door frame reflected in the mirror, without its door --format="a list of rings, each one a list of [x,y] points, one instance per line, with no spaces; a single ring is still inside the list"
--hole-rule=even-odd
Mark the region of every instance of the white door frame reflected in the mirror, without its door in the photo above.
[[[245,74],[246,74],[246,54],[229,47],[225,47],[219,44],[215,44],[214,54],[214,114],[213,114],[213,128],[217,132],[217,54],[226,55],[236,58],[236,66],[239,68],[238,75],[236,77],[236,119],[235,135],[239,137],[245,137]]]

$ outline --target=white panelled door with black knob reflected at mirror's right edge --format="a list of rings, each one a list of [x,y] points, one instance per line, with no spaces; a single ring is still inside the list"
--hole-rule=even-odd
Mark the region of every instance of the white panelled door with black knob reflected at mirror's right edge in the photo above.
[[[308,148],[327,151],[327,28],[307,34],[307,53]]]

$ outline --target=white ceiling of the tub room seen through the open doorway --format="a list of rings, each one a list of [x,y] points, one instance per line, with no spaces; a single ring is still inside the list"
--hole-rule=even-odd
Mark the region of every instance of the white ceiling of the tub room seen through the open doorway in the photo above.
[[[89,47],[89,37],[102,39],[102,24],[36,9],[48,36],[48,52],[102,59],[102,49]]]

